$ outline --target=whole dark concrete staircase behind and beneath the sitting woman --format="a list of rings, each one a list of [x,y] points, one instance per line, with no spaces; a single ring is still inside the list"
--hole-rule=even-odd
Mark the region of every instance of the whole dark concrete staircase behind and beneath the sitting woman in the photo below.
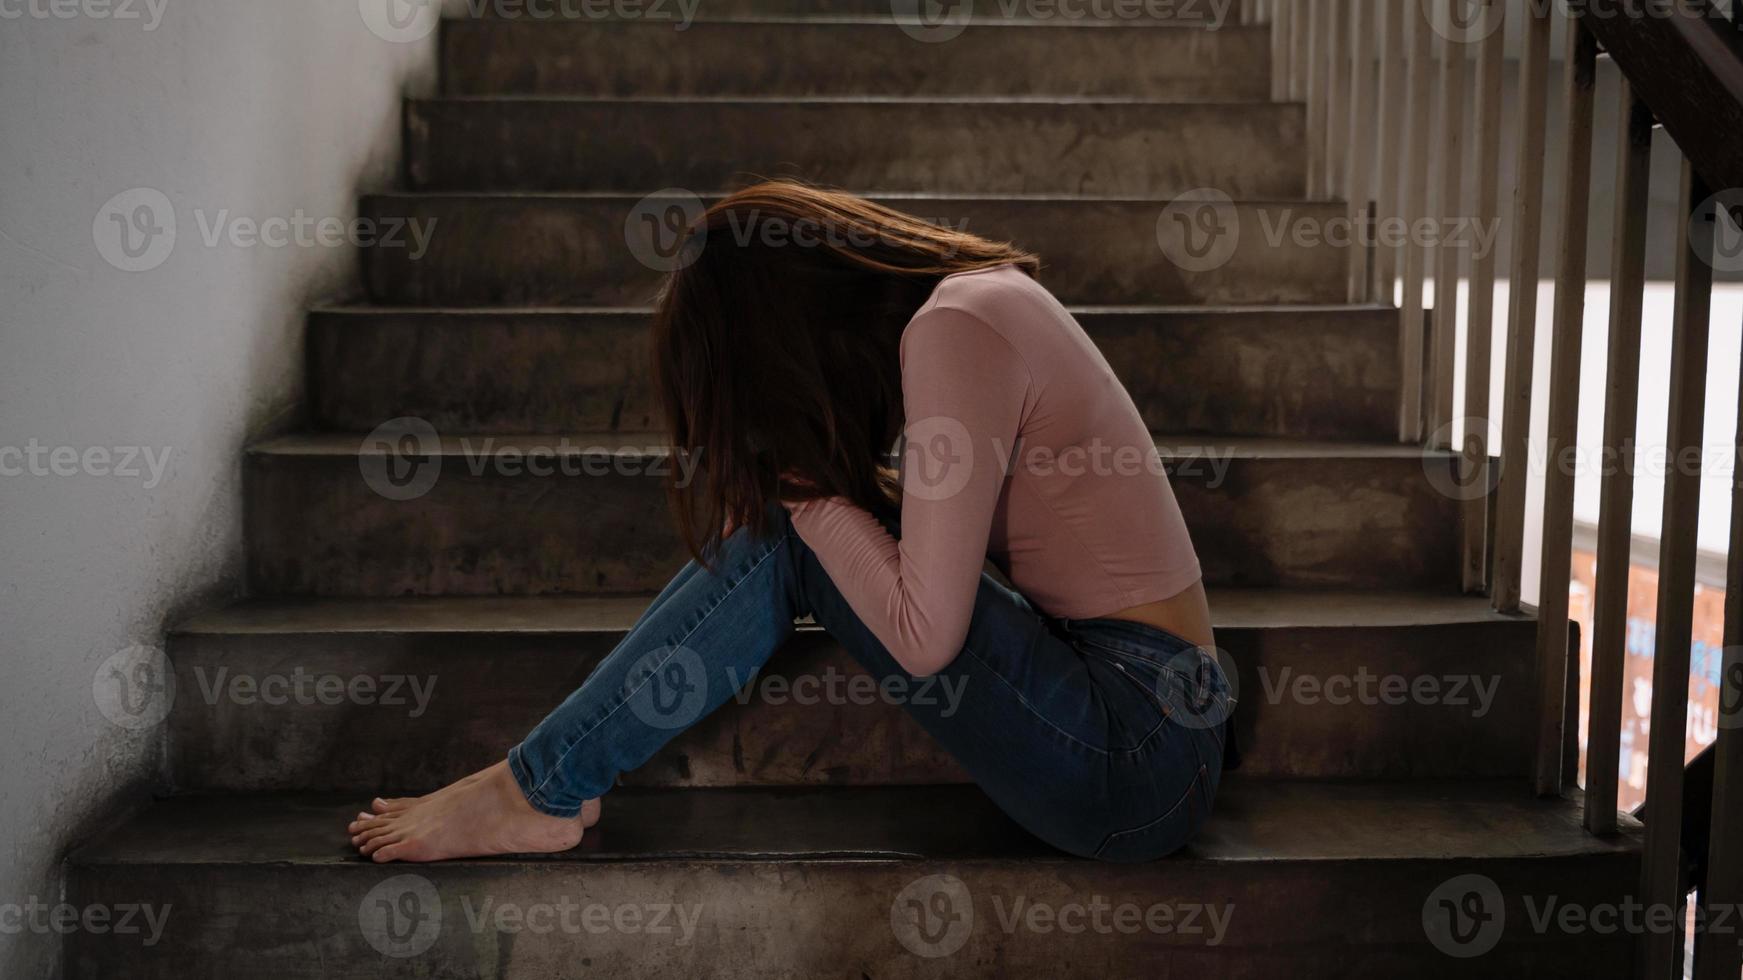
[[[436,220],[429,251],[368,251],[373,305],[310,316],[309,431],[246,459],[256,598],[171,638],[176,795],[70,860],[70,902],[167,929],[75,935],[68,977],[1621,977],[1628,936],[1534,921],[1621,902],[1637,828],[1530,795],[1536,628],[1459,595],[1454,460],[1394,438],[1396,314],[1342,303],[1349,253],[1260,234],[1344,213],[1302,201],[1267,31],[922,44],[795,2],[446,26],[410,190],[363,202]],[[347,814],[500,759],[680,565],[626,216],[776,173],[1044,256],[1157,431],[1239,664],[1215,820],[1154,865],[1051,853],[802,631],[575,853],[356,858]],[[1203,185],[1248,234],[1190,272],[1157,218]],[[397,417],[417,459],[364,436]],[[371,480],[404,467],[425,492]]]

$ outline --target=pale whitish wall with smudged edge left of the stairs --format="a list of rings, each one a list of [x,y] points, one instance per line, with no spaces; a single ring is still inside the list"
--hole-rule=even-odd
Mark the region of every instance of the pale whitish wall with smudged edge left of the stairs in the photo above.
[[[302,310],[352,293],[357,256],[202,227],[350,220],[394,185],[434,40],[371,31],[383,2],[0,0],[0,905],[54,900],[66,846],[157,776],[99,666],[241,588],[242,445],[298,405]],[[124,272],[99,209],[141,187],[176,241]],[[52,975],[58,947],[0,935],[0,977]]]

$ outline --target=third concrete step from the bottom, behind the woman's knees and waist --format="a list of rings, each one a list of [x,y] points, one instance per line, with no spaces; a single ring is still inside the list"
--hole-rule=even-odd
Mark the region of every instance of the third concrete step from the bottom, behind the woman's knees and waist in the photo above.
[[[1159,448],[1210,584],[1459,586],[1452,453]],[[612,432],[272,439],[244,462],[249,579],[254,595],[657,591],[685,560],[662,493],[680,466],[657,438]]]

